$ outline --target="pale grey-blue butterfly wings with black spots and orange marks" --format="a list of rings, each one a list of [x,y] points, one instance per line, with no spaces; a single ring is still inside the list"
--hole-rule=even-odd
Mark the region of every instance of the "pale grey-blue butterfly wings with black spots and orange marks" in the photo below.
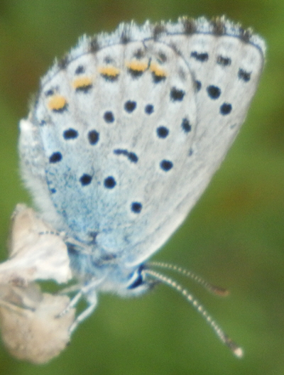
[[[23,175],[45,217],[98,258],[131,266],[157,251],[244,121],[261,48],[229,23],[222,36],[194,25],[122,25],[82,39],[21,123]]]

